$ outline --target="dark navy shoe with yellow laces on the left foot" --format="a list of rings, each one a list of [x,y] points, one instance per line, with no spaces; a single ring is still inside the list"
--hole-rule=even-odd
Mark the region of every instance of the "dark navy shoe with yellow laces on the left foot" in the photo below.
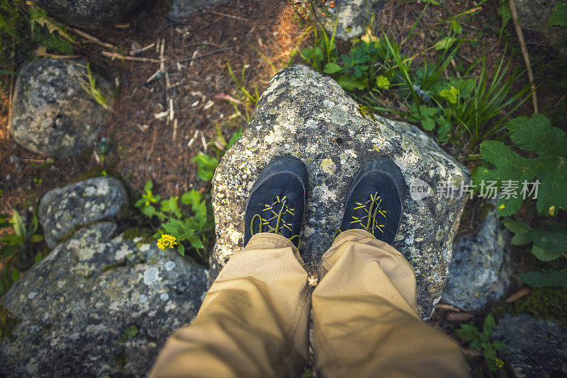
[[[299,246],[308,178],[303,161],[282,156],[270,161],[258,176],[245,214],[246,245],[259,232],[279,234]]]

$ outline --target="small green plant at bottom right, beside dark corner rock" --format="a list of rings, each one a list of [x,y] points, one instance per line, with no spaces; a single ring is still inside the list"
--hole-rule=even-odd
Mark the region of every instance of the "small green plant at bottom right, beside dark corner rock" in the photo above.
[[[462,340],[468,341],[468,346],[483,351],[483,357],[488,365],[490,372],[498,372],[504,366],[504,362],[498,358],[498,350],[506,348],[500,341],[490,340],[495,321],[492,314],[488,314],[484,319],[483,330],[478,329],[472,324],[461,324],[461,329],[456,329],[455,335]]]

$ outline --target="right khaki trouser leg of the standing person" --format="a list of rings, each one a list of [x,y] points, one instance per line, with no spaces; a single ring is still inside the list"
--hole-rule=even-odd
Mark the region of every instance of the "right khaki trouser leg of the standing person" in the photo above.
[[[313,336],[323,377],[468,377],[454,340],[417,316],[413,269],[392,246],[342,232],[320,276]]]

